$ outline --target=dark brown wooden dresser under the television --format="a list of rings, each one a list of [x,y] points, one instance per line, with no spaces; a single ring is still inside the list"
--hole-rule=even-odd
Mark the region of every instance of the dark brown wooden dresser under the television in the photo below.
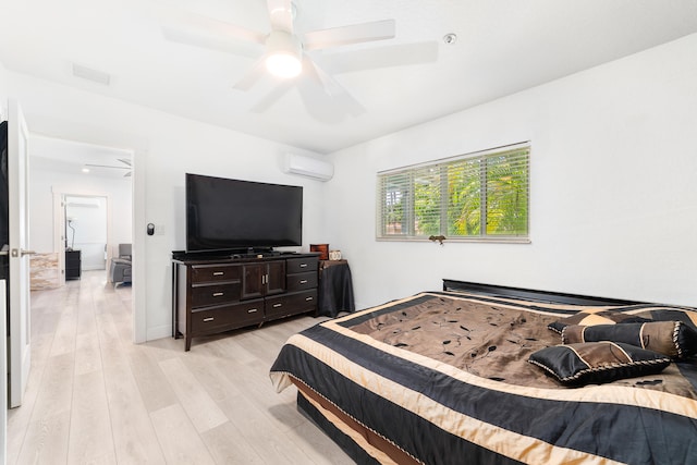
[[[217,334],[317,313],[319,254],[172,253],[172,336]]]

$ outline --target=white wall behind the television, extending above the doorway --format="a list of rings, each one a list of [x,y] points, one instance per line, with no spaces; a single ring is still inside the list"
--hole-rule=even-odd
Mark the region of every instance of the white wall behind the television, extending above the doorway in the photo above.
[[[136,339],[171,334],[171,252],[184,243],[184,173],[303,185],[302,249],[323,242],[322,183],[284,174],[293,147],[162,113],[125,101],[7,72],[8,94],[30,132],[134,150],[134,301]],[[60,130],[60,131],[58,131]],[[162,235],[147,236],[152,222]]]

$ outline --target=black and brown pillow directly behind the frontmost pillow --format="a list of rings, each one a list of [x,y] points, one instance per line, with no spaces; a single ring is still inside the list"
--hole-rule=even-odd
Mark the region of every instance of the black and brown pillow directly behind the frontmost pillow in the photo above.
[[[671,358],[687,358],[697,353],[697,332],[682,321],[568,325],[562,330],[562,344],[597,341],[624,342]]]

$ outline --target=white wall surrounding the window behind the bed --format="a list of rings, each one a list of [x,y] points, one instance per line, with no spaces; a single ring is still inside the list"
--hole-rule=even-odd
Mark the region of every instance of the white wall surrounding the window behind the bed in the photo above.
[[[697,305],[695,50],[692,35],[332,154],[327,240],[357,305],[441,278]],[[376,242],[378,171],[523,140],[531,244]]]

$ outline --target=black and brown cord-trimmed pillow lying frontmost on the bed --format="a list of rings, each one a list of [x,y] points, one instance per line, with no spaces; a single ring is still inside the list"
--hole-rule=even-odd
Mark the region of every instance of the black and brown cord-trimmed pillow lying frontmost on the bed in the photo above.
[[[622,342],[585,342],[545,347],[529,363],[567,386],[655,375],[670,365],[665,355]]]

